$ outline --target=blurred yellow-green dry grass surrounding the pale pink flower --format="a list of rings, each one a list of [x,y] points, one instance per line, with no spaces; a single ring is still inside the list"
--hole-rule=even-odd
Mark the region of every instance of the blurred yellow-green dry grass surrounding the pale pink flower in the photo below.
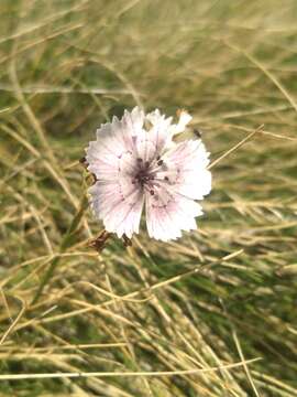
[[[297,2],[1,0],[0,15],[1,395],[297,396]],[[84,148],[135,104],[188,109],[212,160],[264,127],[213,167],[198,232],[98,255],[86,211],[62,249]],[[119,375],[36,376],[59,372]]]

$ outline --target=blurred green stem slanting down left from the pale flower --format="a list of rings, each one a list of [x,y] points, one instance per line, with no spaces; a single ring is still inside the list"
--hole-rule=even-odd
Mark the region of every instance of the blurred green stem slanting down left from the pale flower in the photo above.
[[[73,222],[68,228],[68,230],[66,232],[65,236],[63,237],[63,240],[61,243],[61,246],[59,246],[59,254],[63,254],[65,253],[65,250],[70,246],[72,244],[72,239],[73,239],[73,236],[81,221],[81,217],[86,211],[88,206],[88,198],[86,195],[82,196],[81,198],[81,202],[80,202],[80,205],[79,205],[79,210],[77,211],[76,215],[74,216],[73,218]],[[56,256],[53,258],[46,273],[44,275],[41,283],[40,283],[40,287],[32,300],[32,304],[35,304],[37,302],[37,300],[40,299],[45,286],[48,283],[48,281],[52,279],[54,272],[55,272],[55,269],[59,262],[59,258],[61,256]]]

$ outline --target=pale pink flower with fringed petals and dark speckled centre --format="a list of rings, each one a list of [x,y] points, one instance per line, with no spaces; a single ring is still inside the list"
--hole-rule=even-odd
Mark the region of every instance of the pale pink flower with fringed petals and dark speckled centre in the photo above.
[[[118,237],[139,233],[143,207],[150,237],[167,242],[182,230],[196,229],[200,204],[211,190],[209,153],[200,139],[173,141],[191,120],[186,111],[172,124],[158,109],[145,115],[139,107],[97,130],[86,149],[90,206],[107,232]]]

